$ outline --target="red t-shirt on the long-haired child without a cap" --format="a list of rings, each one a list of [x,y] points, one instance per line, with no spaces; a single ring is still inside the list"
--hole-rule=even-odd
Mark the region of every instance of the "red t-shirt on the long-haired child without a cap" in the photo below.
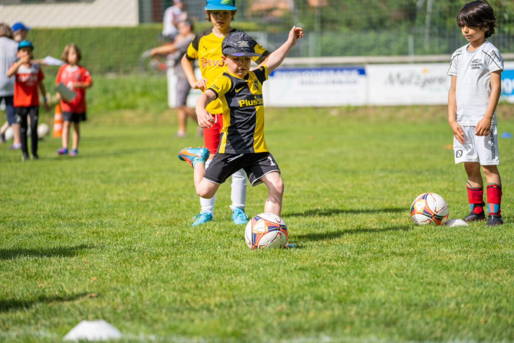
[[[56,84],[59,82],[64,83],[66,86],[74,82],[91,82],[91,75],[83,66],[77,65],[70,67],[66,63],[63,64],[57,72]],[[77,93],[77,95],[69,101],[61,99],[61,110],[72,113],[86,112],[86,89],[71,88],[71,90]]]

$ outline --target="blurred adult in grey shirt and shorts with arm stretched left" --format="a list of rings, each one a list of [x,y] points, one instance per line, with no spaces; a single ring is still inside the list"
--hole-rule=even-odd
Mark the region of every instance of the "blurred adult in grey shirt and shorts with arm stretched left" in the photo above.
[[[150,50],[150,55],[167,55],[168,59],[171,59],[175,62],[173,67],[173,71],[175,76],[177,77],[177,83],[175,84],[175,92],[176,92],[176,109],[177,109],[177,122],[178,122],[178,131],[177,137],[186,137],[186,121],[187,117],[192,118],[196,121],[196,113],[195,110],[191,107],[187,106],[187,97],[189,95],[189,91],[191,86],[189,81],[182,69],[182,65],[180,64],[180,60],[186,50],[188,49],[189,44],[193,41],[194,33],[193,33],[193,22],[189,19],[183,20],[178,23],[178,34],[175,37],[175,40],[172,44],[161,45],[156,48]]]

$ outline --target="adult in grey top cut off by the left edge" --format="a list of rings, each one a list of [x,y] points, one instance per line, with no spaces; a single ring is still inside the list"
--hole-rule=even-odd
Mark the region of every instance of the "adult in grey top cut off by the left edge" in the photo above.
[[[5,132],[10,126],[13,143],[9,149],[20,149],[20,124],[16,122],[13,105],[14,76],[7,77],[7,70],[17,60],[18,43],[12,38],[9,25],[0,23],[0,102],[5,102],[7,112],[7,122],[0,128],[0,142],[5,142]]]

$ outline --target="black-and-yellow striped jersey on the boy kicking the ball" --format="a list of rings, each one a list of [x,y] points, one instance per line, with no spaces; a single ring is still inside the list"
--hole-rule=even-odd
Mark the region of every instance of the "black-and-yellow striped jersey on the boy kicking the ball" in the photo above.
[[[249,71],[242,79],[225,71],[209,87],[222,104],[223,128],[217,153],[267,152],[264,141],[262,84],[268,68]]]

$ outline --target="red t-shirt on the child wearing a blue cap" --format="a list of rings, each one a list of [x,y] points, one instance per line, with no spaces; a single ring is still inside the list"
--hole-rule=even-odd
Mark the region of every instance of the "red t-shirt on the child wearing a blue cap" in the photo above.
[[[39,106],[38,85],[44,78],[38,63],[30,66],[22,64],[14,74],[14,106]]]

